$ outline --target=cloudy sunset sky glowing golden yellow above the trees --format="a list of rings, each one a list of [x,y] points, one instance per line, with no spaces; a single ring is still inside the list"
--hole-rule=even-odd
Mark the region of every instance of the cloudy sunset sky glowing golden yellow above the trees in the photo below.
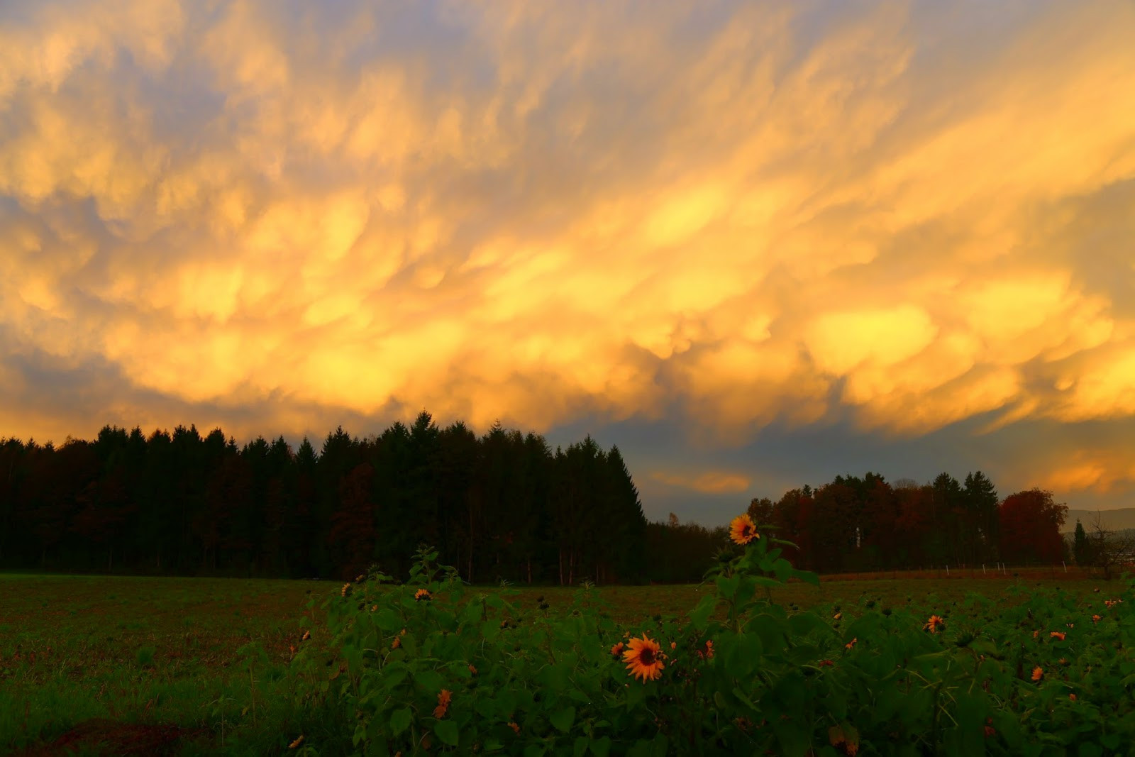
[[[0,3],[0,437],[428,410],[650,519],[1135,505],[1135,3]]]

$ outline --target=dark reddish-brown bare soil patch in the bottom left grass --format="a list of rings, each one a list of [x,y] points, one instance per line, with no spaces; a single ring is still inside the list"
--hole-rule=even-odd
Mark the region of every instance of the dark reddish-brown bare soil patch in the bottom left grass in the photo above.
[[[91,720],[79,723],[54,741],[18,752],[18,757],[56,757],[77,751],[99,755],[175,755],[188,741],[208,739],[201,729],[173,724],[121,723]]]

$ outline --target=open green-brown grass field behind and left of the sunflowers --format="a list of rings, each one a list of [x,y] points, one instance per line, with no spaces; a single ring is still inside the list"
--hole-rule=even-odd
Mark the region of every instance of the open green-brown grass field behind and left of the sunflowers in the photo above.
[[[857,605],[949,614],[972,591],[1012,600],[1012,587],[1087,595],[1103,582],[1059,569],[1016,577],[955,571],[833,577],[773,591],[789,608]],[[327,642],[317,607],[338,583],[0,573],[0,752],[280,754],[305,733],[336,754],[342,726],[292,704],[286,675],[304,631]],[[496,589],[485,589],[495,591]],[[697,586],[600,587],[628,628],[682,616]],[[515,589],[513,602],[556,613],[575,589]],[[956,611],[960,612],[960,611]],[[342,743],[342,741],[339,741]],[[350,748],[350,742],[345,745]]]

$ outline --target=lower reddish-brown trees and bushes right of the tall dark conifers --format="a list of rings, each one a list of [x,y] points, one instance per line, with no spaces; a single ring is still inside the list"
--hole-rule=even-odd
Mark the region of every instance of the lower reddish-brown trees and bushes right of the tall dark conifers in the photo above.
[[[981,471],[964,481],[941,473],[925,485],[909,479],[892,485],[869,472],[836,476],[816,489],[791,489],[776,502],[753,499],[747,512],[772,527],[768,536],[797,545],[785,549],[797,567],[819,573],[1052,564],[1069,556],[1060,533],[1066,505],[1041,489],[1001,499]],[[699,580],[726,533],[725,527],[680,523],[673,514],[667,523],[650,523],[648,553],[671,555],[665,564],[651,561],[655,580]]]

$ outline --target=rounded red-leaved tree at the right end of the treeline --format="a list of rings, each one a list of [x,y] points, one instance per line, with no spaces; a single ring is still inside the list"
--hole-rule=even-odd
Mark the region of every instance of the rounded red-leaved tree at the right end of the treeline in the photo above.
[[[1043,489],[1018,491],[1006,497],[998,507],[1002,560],[1060,561],[1063,557],[1060,527],[1067,514],[1068,506],[1054,503],[1052,493]]]

